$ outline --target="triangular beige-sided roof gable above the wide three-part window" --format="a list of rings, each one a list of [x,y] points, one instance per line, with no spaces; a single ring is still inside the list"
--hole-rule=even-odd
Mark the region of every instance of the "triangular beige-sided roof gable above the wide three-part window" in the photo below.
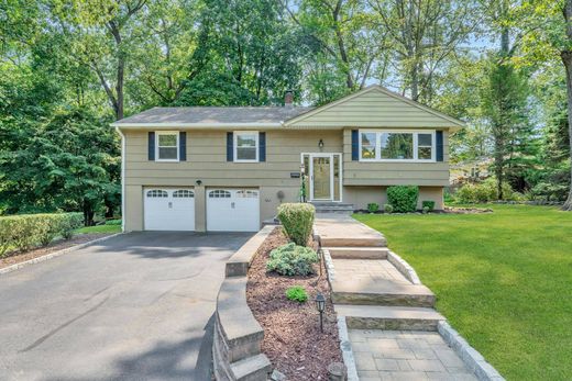
[[[459,130],[464,127],[464,122],[374,85],[295,116],[284,125],[294,128],[448,127]]]

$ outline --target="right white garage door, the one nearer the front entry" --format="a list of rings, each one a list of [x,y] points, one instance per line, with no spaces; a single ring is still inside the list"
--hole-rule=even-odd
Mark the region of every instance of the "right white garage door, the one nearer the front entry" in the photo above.
[[[251,189],[207,191],[207,231],[257,232],[260,192]]]

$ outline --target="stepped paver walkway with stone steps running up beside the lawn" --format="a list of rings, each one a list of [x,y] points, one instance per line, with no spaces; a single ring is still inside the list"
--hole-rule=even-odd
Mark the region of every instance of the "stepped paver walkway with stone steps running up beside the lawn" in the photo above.
[[[433,293],[394,266],[381,233],[336,213],[318,215],[315,231],[360,380],[476,380],[437,333]]]

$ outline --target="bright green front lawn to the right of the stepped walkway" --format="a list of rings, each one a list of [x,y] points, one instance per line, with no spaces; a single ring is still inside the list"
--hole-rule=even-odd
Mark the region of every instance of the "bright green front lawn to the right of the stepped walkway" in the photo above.
[[[437,309],[508,380],[572,379],[572,213],[354,215],[382,232]]]

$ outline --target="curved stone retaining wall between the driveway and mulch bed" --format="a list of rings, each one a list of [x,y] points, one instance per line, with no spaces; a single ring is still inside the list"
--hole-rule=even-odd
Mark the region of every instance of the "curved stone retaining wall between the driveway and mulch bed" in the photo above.
[[[212,359],[219,381],[266,381],[272,365],[262,354],[264,329],[246,304],[246,273],[275,226],[265,226],[227,261],[227,278],[217,296]]]

